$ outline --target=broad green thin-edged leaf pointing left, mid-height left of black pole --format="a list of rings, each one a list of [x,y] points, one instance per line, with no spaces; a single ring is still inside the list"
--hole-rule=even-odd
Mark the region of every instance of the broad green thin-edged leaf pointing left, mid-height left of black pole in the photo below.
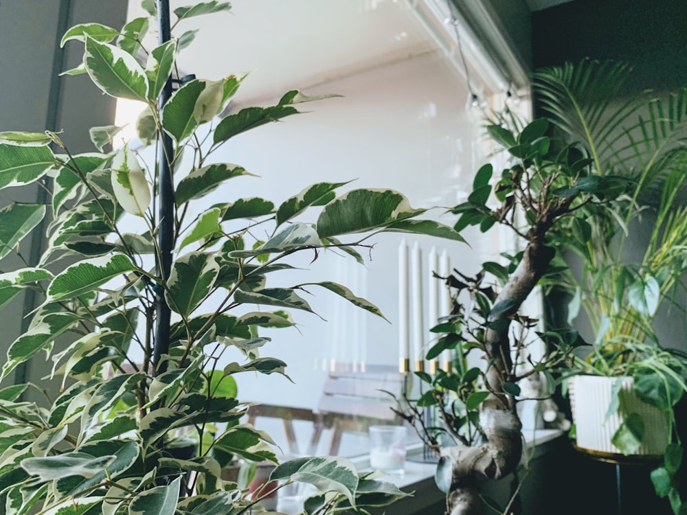
[[[110,279],[135,270],[131,260],[124,254],[106,255],[83,260],[59,273],[48,286],[49,301],[72,299],[95,290]]]

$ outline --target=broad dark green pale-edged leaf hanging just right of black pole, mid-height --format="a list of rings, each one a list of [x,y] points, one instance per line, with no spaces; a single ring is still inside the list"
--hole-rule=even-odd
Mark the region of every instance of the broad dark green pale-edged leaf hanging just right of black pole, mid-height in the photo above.
[[[203,252],[182,255],[172,266],[165,290],[170,308],[187,318],[210,295],[218,273],[214,255]]]

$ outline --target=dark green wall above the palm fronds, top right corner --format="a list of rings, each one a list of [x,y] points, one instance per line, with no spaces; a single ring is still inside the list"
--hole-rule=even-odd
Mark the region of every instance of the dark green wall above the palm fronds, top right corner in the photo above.
[[[587,56],[631,63],[631,91],[686,85],[687,1],[576,0],[532,13],[534,67]]]

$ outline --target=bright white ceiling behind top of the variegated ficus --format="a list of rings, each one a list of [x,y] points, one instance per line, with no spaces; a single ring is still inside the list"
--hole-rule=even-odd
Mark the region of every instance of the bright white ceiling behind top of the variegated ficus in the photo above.
[[[189,2],[170,3],[173,10]],[[139,0],[129,0],[128,19],[143,15]],[[212,80],[250,72],[239,103],[437,48],[407,0],[234,0],[231,12],[182,21],[174,32],[196,28],[179,67]]]

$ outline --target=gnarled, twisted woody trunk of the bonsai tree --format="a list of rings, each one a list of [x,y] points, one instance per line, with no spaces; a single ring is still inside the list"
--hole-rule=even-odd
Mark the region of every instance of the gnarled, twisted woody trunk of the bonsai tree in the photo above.
[[[554,257],[554,249],[538,241],[530,242],[523,258],[499,293],[495,304],[507,299],[513,307],[495,319],[507,319],[517,312],[530,295]],[[442,449],[436,482],[442,488],[450,485],[447,509],[450,515],[482,514],[483,503],[477,490],[477,474],[500,479],[513,472],[522,455],[521,423],[515,413],[515,400],[503,390],[513,371],[508,329],[487,330],[485,351],[491,366],[485,372],[488,388],[493,391],[482,404],[480,425],[487,442],[474,447],[452,446]],[[450,464],[450,466],[448,466]],[[444,488],[445,490],[445,488]]]

